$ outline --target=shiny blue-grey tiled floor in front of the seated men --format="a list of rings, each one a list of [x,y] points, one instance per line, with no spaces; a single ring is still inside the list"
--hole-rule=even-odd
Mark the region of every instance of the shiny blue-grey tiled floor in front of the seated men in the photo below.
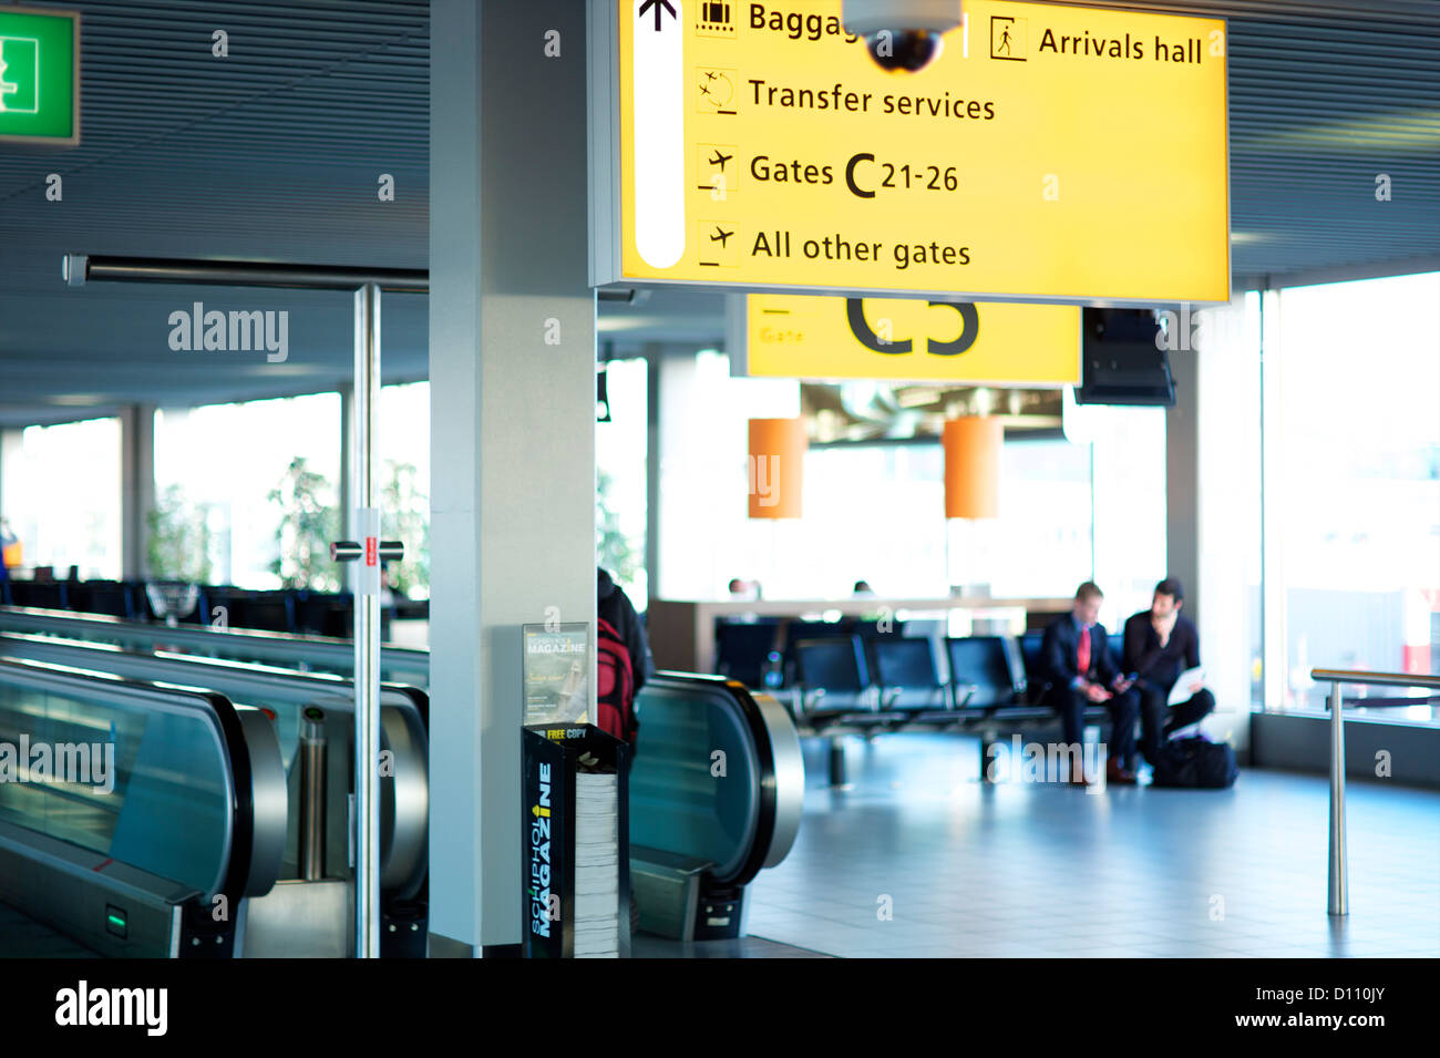
[[[982,786],[953,736],[806,744],[805,818],[749,888],[752,936],[838,956],[1440,956],[1440,792],[1351,783],[1348,920],[1326,901],[1329,785]],[[888,910],[890,917],[883,917]]]

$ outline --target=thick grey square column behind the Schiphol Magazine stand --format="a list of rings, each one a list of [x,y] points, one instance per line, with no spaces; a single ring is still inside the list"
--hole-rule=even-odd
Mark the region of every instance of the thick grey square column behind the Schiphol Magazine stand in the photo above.
[[[431,6],[433,954],[520,943],[520,626],[595,620],[585,19]]]

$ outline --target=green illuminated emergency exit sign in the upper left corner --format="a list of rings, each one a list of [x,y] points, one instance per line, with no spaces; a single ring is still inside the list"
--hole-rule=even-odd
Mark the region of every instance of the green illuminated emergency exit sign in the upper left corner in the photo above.
[[[81,16],[0,7],[0,141],[81,141]]]

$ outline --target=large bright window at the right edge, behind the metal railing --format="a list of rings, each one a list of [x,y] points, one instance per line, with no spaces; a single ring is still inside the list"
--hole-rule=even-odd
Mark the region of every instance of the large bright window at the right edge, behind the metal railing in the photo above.
[[[1290,288],[1279,305],[1280,701],[1322,708],[1312,668],[1440,668],[1440,273]]]

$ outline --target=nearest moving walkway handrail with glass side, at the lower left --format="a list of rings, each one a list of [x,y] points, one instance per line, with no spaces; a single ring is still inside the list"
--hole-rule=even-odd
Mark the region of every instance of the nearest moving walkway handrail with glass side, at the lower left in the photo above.
[[[0,901],[101,954],[243,953],[285,848],[265,713],[0,659]]]

